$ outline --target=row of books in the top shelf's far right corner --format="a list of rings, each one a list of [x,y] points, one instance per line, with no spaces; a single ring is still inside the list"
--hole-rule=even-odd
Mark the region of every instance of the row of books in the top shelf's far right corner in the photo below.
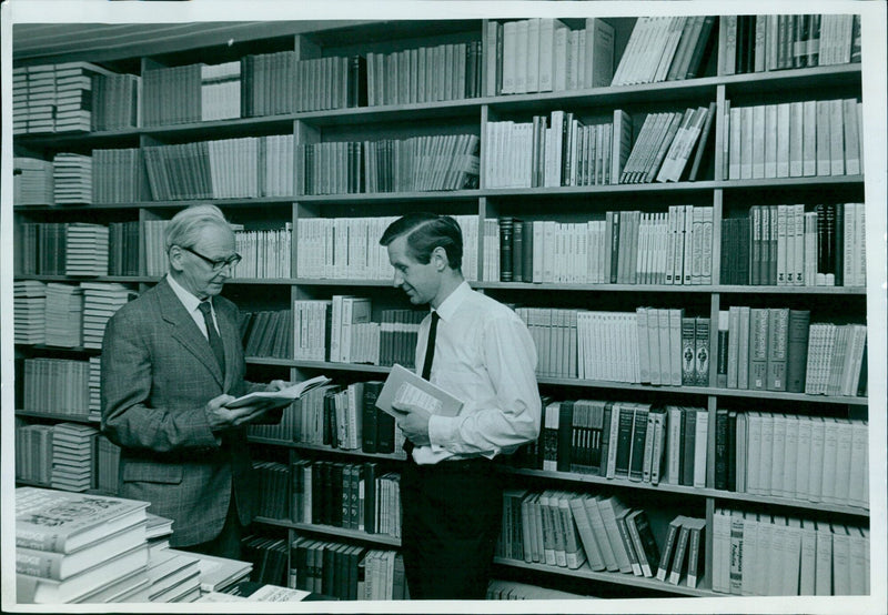
[[[860,61],[859,14],[724,16],[719,74]]]

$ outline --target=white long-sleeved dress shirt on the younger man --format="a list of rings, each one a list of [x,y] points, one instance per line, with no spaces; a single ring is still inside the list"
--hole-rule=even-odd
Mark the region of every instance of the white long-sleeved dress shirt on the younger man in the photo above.
[[[416,446],[418,464],[445,458],[493,458],[539,434],[536,349],[524,322],[506,305],[463,282],[437,309],[431,382],[464,402],[458,416],[433,415],[431,446]],[[417,373],[431,314],[420,325]]]

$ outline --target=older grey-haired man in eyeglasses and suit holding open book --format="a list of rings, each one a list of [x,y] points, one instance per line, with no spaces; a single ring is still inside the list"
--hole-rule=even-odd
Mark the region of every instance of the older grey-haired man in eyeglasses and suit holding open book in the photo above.
[[[279,422],[281,406],[225,404],[289,383],[244,381],[238,308],[219,295],[241,260],[222,212],[179,212],[165,244],[167,276],[105,329],[102,431],[121,447],[120,495],[172,518],[172,546],[239,558],[256,501],[246,425]]]

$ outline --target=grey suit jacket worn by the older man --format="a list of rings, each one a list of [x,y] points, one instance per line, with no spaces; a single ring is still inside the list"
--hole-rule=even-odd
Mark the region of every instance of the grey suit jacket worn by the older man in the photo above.
[[[102,344],[102,431],[121,446],[121,496],[172,518],[173,546],[219,535],[232,485],[241,523],[254,514],[246,427],[218,437],[204,407],[263,387],[244,382],[238,308],[221,296],[213,306],[224,374],[165,278],[111,317]]]

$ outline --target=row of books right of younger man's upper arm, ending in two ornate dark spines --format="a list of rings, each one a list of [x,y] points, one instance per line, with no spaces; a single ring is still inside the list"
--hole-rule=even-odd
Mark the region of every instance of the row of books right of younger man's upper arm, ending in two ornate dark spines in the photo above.
[[[709,319],[684,309],[593,312],[516,308],[537,349],[537,374],[673,386],[709,385]]]

